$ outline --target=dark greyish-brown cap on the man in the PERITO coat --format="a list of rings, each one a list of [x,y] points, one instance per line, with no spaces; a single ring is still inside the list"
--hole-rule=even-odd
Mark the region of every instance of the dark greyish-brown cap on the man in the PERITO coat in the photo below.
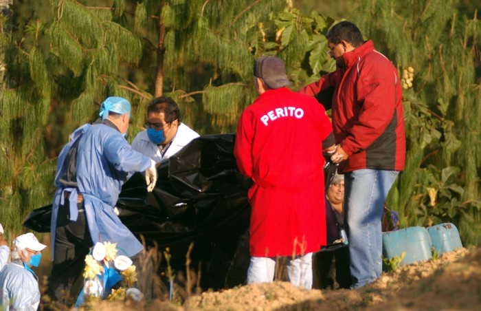
[[[291,81],[287,78],[284,61],[274,56],[257,58],[254,63],[254,76],[261,78],[271,89],[291,85]]]

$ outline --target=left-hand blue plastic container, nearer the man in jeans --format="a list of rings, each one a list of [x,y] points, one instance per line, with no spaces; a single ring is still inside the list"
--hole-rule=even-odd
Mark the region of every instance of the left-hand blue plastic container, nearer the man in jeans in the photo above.
[[[383,232],[383,256],[390,259],[405,253],[401,265],[431,259],[431,246],[431,237],[421,226]]]

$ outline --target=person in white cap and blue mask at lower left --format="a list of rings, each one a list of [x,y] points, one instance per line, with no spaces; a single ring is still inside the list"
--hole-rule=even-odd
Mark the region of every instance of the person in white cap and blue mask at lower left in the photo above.
[[[2,310],[36,311],[40,290],[32,267],[38,267],[41,251],[47,246],[38,242],[33,233],[19,235],[13,244],[12,262],[0,271],[0,305]]]

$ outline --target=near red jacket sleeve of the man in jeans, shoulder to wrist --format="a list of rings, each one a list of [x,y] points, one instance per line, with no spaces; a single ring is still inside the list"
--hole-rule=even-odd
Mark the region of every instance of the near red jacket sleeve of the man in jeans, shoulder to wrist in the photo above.
[[[341,142],[341,147],[350,156],[366,149],[384,132],[391,122],[396,109],[396,81],[399,77],[395,69],[385,69],[382,65],[365,67],[357,83],[357,100],[362,107],[357,122]]]

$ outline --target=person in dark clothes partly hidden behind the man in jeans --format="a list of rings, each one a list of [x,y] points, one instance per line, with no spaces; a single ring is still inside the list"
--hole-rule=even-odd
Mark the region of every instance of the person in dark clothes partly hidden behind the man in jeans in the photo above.
[[[335,174],[326,191],[326,228],[327,244],[342,239],[339,232],[344,230],[344,175]],[[348,241],[344,241],[347,244]],[[348,246],[339,246],[333,250],[323,250],[316,254],[317,271],[322,288],[334,288],[334,280],[329,277],[331,266],[335,261],[335,280],[339,288],[350,288],[352,279],[349,270]]]

